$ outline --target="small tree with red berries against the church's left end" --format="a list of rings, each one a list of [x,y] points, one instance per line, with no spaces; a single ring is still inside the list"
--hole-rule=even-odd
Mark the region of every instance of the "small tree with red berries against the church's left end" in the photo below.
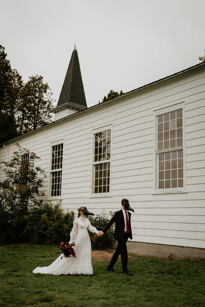
[[[17,150],[10,161],[1,161],[4,179],[0,182],[0,232],[6,238],[14,240],[25,228],[24,216],[41,201],[37,196],[45,195],[43,187],[45,171],[36,162],[40,159],[34,152],[22,148],[18,143]]]

